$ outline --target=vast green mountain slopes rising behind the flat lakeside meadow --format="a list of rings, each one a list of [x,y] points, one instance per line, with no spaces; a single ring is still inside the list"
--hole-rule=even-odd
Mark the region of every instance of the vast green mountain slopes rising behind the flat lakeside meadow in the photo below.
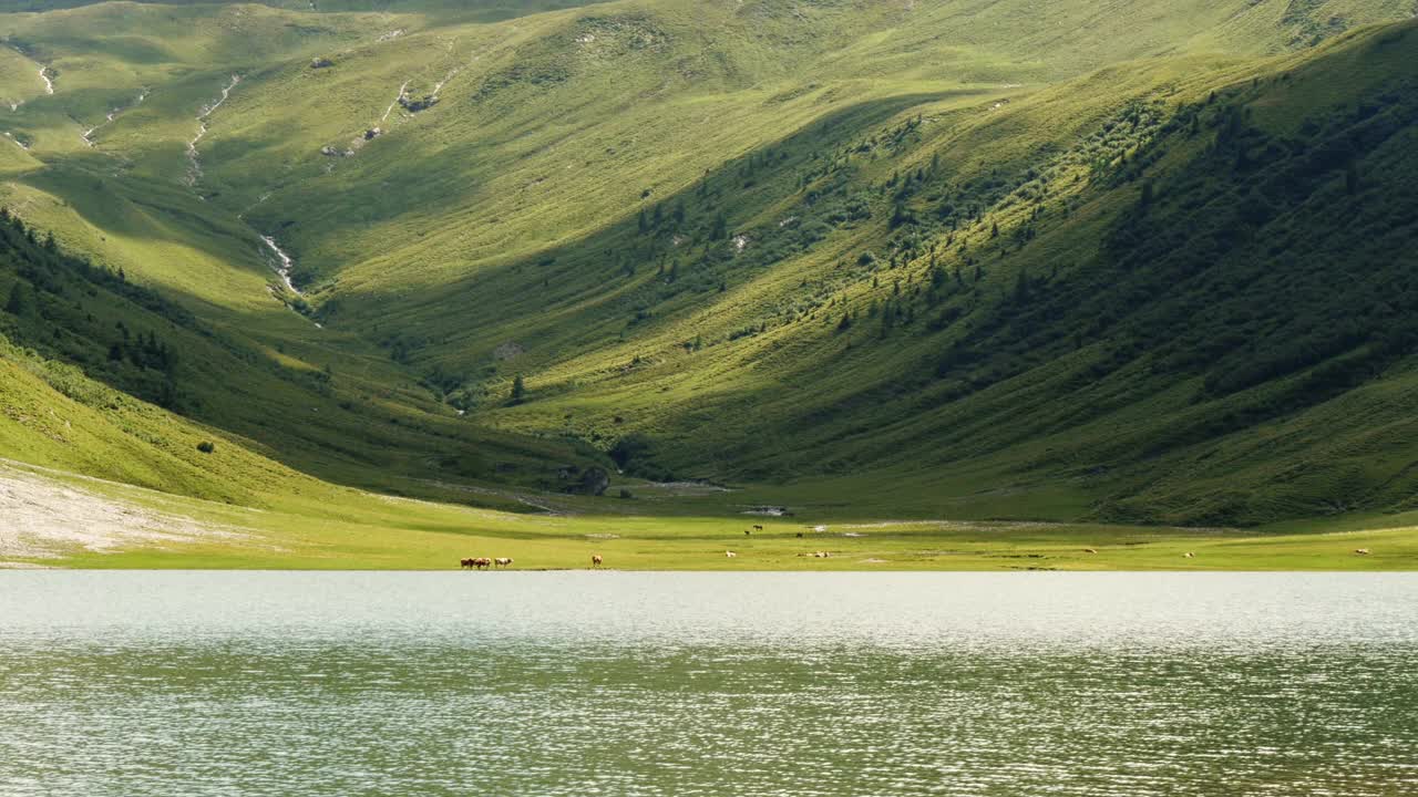
[[[1415,509],[1411,1],[6,9],[0,332],[201,479]]]

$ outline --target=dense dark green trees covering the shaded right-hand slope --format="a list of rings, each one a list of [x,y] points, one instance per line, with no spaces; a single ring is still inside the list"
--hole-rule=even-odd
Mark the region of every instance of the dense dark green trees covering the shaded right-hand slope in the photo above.
[[[1183,108],[1115,163],[1102,187],[1136,201],[1099,257],[1058,281],[1021,269],[942,355],[937,379],[978,390],[1095,346],[1090,379],[1144,364],[1159,379],[1201,377],[1198,403],[1263,387],[1170,441],[1184,444],[1323,401],[1409,355],[1418,85],[1394,84],[1293,133],[1251,121],[1266,88]],[[1153,166],[1198,136],[1208,142],[1198,156]]]

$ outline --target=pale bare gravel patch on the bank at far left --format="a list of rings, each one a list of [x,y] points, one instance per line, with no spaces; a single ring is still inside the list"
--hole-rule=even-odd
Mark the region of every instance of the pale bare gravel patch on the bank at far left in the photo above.
[[[16,559],[57,559],[75,549],[104,553],[241,536],[0,464],[0,566],[14,566]]]

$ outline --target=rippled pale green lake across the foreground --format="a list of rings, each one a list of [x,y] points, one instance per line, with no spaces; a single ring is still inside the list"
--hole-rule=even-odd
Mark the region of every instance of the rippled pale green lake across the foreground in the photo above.
[[[0,796],[1418,794],[1418,577],[0,572]]]

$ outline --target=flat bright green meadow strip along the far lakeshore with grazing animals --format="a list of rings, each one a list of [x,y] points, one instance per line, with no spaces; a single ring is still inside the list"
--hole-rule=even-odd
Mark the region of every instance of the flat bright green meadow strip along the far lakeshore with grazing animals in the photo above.
[[[24,469],[4,469],[14,468]],[[254,509],[37,475],[203,528],[183,539],[60,546],[44,557],[11,559],[47,567],[442,570],[486,556],[513,557],[513,570],[542,570],[587,569],[591,554],[618,570],[1408,570],[1418,563],[1418,533],[1402,516],[1351,520],[1341,530],[883,522],[811,505],[793,518],[761,518],[740,513],[737,491],[630,501],[526,494],[557,513],[513,513],[328,485],[268,495],[267,506]],[[654,495],[642,485],[630,489]],[[607,506],[615,502],[637,506]]]

